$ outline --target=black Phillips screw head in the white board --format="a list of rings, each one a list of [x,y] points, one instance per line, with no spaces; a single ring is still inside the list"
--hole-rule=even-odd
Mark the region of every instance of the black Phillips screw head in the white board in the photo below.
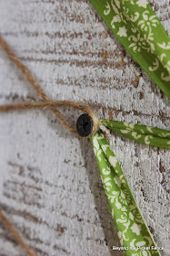
[[[76,122],[76,130],[82,137],[86,137],[92,133],[93,126],[93,120],[87,113],[80,115]]]

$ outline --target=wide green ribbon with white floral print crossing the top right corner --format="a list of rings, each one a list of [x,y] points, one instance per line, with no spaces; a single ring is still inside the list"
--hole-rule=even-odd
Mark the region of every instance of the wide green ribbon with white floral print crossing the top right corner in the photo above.
[[[146,0],[90,0],[115,37],[170,98],[170,38]]]

